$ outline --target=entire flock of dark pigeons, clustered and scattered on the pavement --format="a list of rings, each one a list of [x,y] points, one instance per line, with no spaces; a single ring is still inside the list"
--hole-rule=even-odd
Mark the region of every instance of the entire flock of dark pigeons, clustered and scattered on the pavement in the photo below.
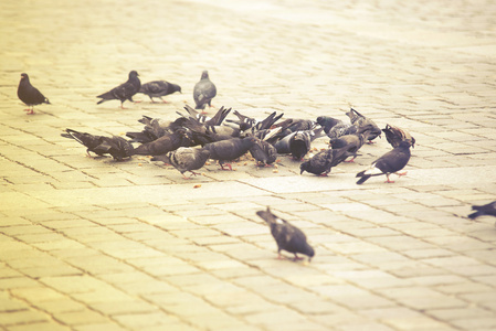
[[[97,104],[117,99],[124,108],[124,103],[134,102],[133,96],[137,93],[148,95],[152,103],[154,97],[166,103],[162,97],[176,92],[181,93],[181,87],[166,81],[141,85],[138,73],[131,71],[127,82],[98,95],[101,100]],[[357,184],[382,174],[386,174],[388,183],[392,183],[390,174],[405,174],[399,171],[408,164],[410,148],[414,148],[415,145],[415,139],[405,129],[391,125],[380,129],[372,119],[353,108],[346,113],[349,122],[328,116],[319,116],[315,120],[283,119],[284,114],[277,115],[275,111],[266,118],[255,119],[238,110],[232,111],[235,119],[228,119],[232,108],[224,107],[212,117],[198,111],[203,110],[207,105],[211,107],[211,100],[215,95],[215,85],[210,81],[208,72],[203,71],[193,88],[194,109],[187,105],[184,107],[187,113],[177,111],[179,117],[175,120],[143,116],[139,122],[145,125],[144,129],[127,132],[126,136],[130,139],[119,136],[96,136],[68,128],[62,136],[85,146],[88,156],[89,152],[97,156],[110,154],[117,161],[136,154],[150,156],[152,161],[170,163],[184,179],[189,179],[191,177],[187,178],[184,173],[197,175],[194,170],[202,168],[209,159],[217,160],[222,170],[232,170],[229,162],[247,152],[260,167],[270,167],[278,154],[291,154],[295,160],[303,161],[310,151],[312,142],[317,138],[329,139],[329,148],[302,162],[300,173],[306,171],[316,175],[327,175],[333,167],[347,159],[352,162],[366,142],[372,143],[372,140],[383,132],[392,150],[373,161],[368,169],[357,173],[356,177],[359,178]],[[49,99],[31,85],[25,73],[21,74],[18,97],[30,107],[25,109],[29,115],[34,114],[35,105],[50,104]],[[134,143],[139,146],[135,147]],[[496,216],[496,201],[473,209],[477,212],[471,214],[471,218],[479,215]],[[268,207],[256,214],[268,224],[278,247],[278,257],[281,250],[286,250],[293,253],[295,259],[298,258],[297,253],[312,259],[315,255],[314,249],[307,244],[300,229],[274,215]]]

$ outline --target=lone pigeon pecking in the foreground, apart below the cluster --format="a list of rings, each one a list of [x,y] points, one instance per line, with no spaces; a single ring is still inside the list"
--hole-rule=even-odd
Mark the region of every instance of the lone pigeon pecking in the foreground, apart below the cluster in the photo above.
[[[262,217],[271,227],[272,236],[277,244],[277,258],[281,259],[281,250],[286,250],[295,255],[294,260],[300,259],[299,254],[308,256],[308,261],[315,255],[314,248],[307,243],[305,234],[289,222],[277,217],[267,206],[266,211],[258,211],[256,214]]]

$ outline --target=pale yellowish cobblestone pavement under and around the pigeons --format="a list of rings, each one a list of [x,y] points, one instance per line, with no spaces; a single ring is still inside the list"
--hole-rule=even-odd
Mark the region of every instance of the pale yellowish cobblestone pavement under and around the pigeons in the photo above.
[[[2,1],[0,330],[495,330],[495,220],[466,218],[496,199],[495,17],[484,0]],[[97,106],[130,70],[183,94]],[[328,178],[281,157],[186,181],[60,136],[175,118],[202,70],[217,107],[352,106],[408,128],[409,175],[355,184],[386,139]],[[33,116],[23,72],[52,102]],[[305,231],[310,264],[275,258],[267,205]]]

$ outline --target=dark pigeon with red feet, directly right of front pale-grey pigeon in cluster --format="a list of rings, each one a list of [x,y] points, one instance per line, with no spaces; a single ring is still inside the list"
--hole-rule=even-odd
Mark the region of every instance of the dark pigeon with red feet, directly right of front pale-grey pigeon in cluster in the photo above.
[[[210,151],[210,158],[214,160],[219,160],[219,164],[222,170],[224,169],[223,163],[225,161],[231,161],[240,158],[245,152],[249,151],[250,148],[255,143],[256,138],[246,137],[246,138],[231,138],[228,140],[221,140],[215,142],[210,142],[203,146],[204,149]],[[231,164],[228,163],[228,168],[232,170]]]

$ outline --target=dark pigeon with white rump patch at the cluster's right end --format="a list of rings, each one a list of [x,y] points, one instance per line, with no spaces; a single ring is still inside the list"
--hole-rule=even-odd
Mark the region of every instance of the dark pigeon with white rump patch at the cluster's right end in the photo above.
[[[393,183],[393,181],[389,180],[389,175],[391,173],[395,173],[398,175],[407,174],[407,172],[399,173],[398,171],[403,169],[409,160],[410,142],[401,141],[400,145],[393,150],[390,150],[389,152],[373,161],[372,166],[369,169],[357,173],[357,177],[360,177],[360,179],[357,181],[357,184],[362,184],[372,175],[381,174],[386,174],[386,177],[388,178],[388,180],[386,181],[387,183]]]

